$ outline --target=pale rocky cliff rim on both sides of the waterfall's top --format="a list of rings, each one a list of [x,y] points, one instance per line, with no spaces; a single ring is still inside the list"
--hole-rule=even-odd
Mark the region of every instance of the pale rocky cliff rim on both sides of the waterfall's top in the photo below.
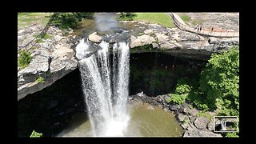
[[[133,24],[133,22],[126,23]],[[91,43],[130,42],[131,53],[158,51],[181,58],[198,60],[208,60],[212,53],[219,53],[221,50],[229,50],[232,46],[239,46],[239,38],[211,38],[178,28],[169,29],[145,22],[134,22],[134,27],[136,26],[136,30],[121,30],[122,32],[115,35],[92,33],[88,39]],[[24,46],[30,42],[34,35],[40,34],[40,31],[42,31],[42,27],[34,25],[18,30],[18,46]],[[67,33],[72,33],[72,30]],[[72,48],[74,44],[71,42],[75,36],[63,36],[62,30],[54,26],[50,26],[47,34],[50,35],[50,38],[34,41],[34,46],[30,47],[32,62],[22,70],[18,67],[18,100],[27,94],[50,86],[78,66]],[[150,48],[147,47],[144,50],[143,46],[150,46]],[[40,77],[44,78],[45,82],[36,82]]]

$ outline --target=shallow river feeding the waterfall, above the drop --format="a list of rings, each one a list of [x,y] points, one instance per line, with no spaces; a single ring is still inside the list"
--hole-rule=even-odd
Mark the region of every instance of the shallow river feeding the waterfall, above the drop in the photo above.
[[[154,26],[142,25],[139,22],[118,22],[118,14],[116,13],[94,13],[94,18],[83,19],[78,23],[78,29],[74,35],[81,38],[87,37],[95,31],[102,35],[124,35],[121,40],[126,41],[128,35],[139,35],[148,28],[155,28]]]

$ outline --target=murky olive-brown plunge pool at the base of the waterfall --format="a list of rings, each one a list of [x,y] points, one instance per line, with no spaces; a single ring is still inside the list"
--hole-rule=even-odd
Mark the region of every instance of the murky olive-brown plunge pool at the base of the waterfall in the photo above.
[[[124,137],[182,137],[182,127],[170,111],[142,102],[129,102],[128,110],[130,122]],[[58,137],[92,137],[86,114],[75,114]]]

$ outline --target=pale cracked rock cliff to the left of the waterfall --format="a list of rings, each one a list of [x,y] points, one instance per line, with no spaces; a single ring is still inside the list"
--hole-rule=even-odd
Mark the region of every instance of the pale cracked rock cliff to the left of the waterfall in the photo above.
[[[33,25],[27,26],[25,30],[18,30],[18,46],[26,44],[27,39],[33,39],[40,30],[42,28]],[[54,26],[50,26],[47,34],[50,38],[35,41],[34,46],[30,47],[30,64],[22,70],[18,67],[18,100],[50,86],[77,67],[73,44],[70,42],[72,36],[62,36],[62,30]],[[40,77],[44,82],[37,82]]]

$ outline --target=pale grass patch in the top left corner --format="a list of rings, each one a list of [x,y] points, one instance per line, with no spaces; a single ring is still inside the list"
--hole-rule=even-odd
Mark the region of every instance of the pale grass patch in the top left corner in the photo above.
[[[34,22],[46,26],[53,13],[18,13],[18,28],[29,26]]]

